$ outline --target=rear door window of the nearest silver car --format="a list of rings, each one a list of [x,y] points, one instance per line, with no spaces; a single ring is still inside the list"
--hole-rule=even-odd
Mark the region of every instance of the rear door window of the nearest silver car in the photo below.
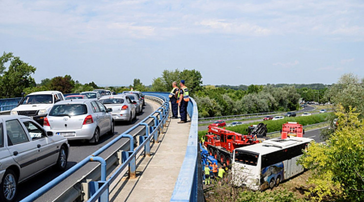
[[[18,120],[6,121],[5,125],[9,146],[29,141],[28,136]]]

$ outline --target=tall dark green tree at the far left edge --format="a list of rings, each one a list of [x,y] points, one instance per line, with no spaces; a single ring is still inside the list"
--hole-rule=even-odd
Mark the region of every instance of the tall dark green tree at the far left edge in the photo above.
[[[7,70],[5,64],[9,62]],[[0,57],[0,92],[3,98],[14,98],[22,95],[23,89],[35,86],[34,79],[30,76],[36,68],[14,57],[13,53],[3,53]]]

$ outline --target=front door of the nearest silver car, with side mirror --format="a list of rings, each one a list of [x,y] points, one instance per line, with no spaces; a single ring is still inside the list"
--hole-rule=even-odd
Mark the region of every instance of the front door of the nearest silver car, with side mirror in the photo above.
[[[37,163],[41,167],[48,167],[57,161],[59,148],[46,136],[45,130],[31,120],[22,120],[25,129],[28,131],[31,141],[36,142],[38,147]]]

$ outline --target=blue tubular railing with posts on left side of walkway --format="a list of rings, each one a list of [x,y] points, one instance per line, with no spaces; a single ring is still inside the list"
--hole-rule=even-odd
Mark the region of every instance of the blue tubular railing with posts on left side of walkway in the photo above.
[[[92,161],[98,161],[101,163],[101,181],[91,182],[91,188],[93,188],[93,189],[91,189],[91,198],[88,200],[88,202],[95,202],[97,200],[99,200],[99,202],[108,202],[110,184],[112,182],[114,182],[114,180],[117,178],[117,176],[120,173],[122,173],[122,171],[124,171],[127,167],[129,167],[129,170],[130,170],[129,175],[133,175],[133,174],[135,175],[135,172],[136,172],[135,162],[136,162],[137,153],[139,153],[142,150],[144,150],[145,154],[150,153],[150,151],[148,151],[148,148],[150,145],[150,140],[152,138],[154,138],[155,141],[156,141],[156,138],[158,139],[158,130],[160,127],[163,127],[163,125],[165,124],[165,122],[168,118],[168,114],[169,114],[169,102],[168,102],[169,99],[167,99],[164,94],[165,93],[159,93],[159,94],[145,93],[145,95],[151,95],[151,96],[162,99],[164,101],[163,104],[155,112],[153,112],[151,115],[146,117],[144,120],[137,123],[130,129],[125,131],[124,133],[120,134],[114,140],[110,141],[109,143],[107,143],[106,145],[101,147],[99,150],[92,153],[89,157],[85,158],[81,162],[78,162],[76,165],[69,168],[66,172],[64,172],[57,178],[55,178],[52,181],[45,184],[40,189],[33,192],[31,195],[27,196],[26,198],[24,198],[21,202],[33,202],[34,200],[36,200],[37,198],[42,196],[45,192],[50,190],[52,187],[57,185],[59,182],[65,180],[68,176],[70,176],[75,171],[80,169],[82,166],[84,166],[88,162],[92,162]],[[166,94],[168,94],[168,93],[166,93]],[[153,116],[156,113],[159,113],[159,119],[157,117]],[[154,124],[150,127],[148,127],[149,125],[145,123],[148,119],[155,120],[155,121],[153,121]],[[102,159],[101,157],[98,157],[98,155],[101,154],[103,151],[105,151],[107,148],[109,148],[111,145],[113,145],[115,142],[120,140],[121,138],[129,137],[129,133],[131,131],[133,131],[134,129],[136,129],[138,126],[146,127],[146,130],[145,130],[146,134],[145,134],[145,136],[142,136],[143,138],[141,138],[142,142],[140,142],[139,146],[135,150],[134,150],[133,146],[131,146],[130,151],[122,152],[122,164],[119,166],[119,168],[114,172],[114,174],[109,179],[106,179],[105,160]],[[133,138],[131,138],[130,141],[131,141],[130,142],[131,144],[134,144]]]

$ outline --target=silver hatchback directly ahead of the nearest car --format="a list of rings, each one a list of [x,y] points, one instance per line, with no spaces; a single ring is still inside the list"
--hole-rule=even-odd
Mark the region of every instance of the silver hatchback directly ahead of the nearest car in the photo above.
[[[68,140],[88,140],[97,143],[100,136],[114,135],[114,120],[97,100],[69,100],[55,104],[45,118],[44,128]]]

